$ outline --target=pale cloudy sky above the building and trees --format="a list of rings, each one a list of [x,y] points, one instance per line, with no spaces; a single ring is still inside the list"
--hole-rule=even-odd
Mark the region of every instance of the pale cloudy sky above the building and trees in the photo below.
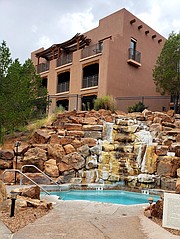
[[[32,51],[89,31],[122,8],[166,38],[180,31],[179,0],[0,0],[0,44],[23,64]]]

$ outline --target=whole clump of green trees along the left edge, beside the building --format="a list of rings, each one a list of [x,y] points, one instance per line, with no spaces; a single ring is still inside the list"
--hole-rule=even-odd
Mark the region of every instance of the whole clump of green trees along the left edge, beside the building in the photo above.
[[[23,65],[16,59],[12,62],[9,49],[3,42],[0,48],[0,133],[13,132],[24,126],[33,117],[45,112],[47,89],[36,74],[30,59]],[[6,49],[5,49],[6,48]],[[6,54],[5,54],[6,53]]]

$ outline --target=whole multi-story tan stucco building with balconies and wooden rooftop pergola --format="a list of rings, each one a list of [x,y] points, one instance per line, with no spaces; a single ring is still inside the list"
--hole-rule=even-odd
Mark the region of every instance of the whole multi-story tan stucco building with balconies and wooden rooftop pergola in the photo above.
[[[67,26],[68,27],[68,26]],[[50,112],[92,107],[93,99],[112,95],[118,109],[138,101],[151,110],[168,107],[152,77],[165,38],[126,9],[99,21],[99,26],[50,48],[32,52],[51,100]]]

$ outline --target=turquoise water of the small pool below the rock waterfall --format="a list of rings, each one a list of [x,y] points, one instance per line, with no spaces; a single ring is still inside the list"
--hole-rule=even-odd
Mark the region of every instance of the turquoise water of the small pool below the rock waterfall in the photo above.
[[[70,190],[51,194],[59,196],[61,200],[88,200],[124,205],[148,203],[149,197],[153,197],[154,202],[160,199],[159,196],[122,190]]]

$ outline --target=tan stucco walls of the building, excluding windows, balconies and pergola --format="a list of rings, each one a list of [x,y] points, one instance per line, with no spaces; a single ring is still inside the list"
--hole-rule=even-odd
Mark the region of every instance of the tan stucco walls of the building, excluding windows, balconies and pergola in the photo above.
[[[136,19],[136,22],[130,24],[132,19]],[[138,29],[139,25],[142,25],[141,29]],[[149,30],[147,35],[145,34],[146,30]],[[154,34],[156,34],[156,38],[152,39]],[[101,19],[97,28],[84,33],[84,35],[91,39],[91,45],[107,38],[103,40],[102,54],[81,59],[81,50],[78,50],[73,53],[72,63],[58,68],[56,68],[56,60],[51,61],[50,70],[46,73],[41,73],[42,77],[48,78],[48,93],[50,95],[55,96],[57,93],[58,74],[70,71],[69,92],[58,94],[66,98],[69,94],[69,110],[77,107],[77,97],[71,97],[70,95],[78,95],[79,109],[83,95],[92,94],[98,97],[108,94],[113,97],[159,96],[153,82],[152,69],[165,42],[163,36],[125,9]],[[140,67],[127,63],[131,38],[137,40],[136,50],[141,52]],[[159,39],[162,39],[162,42],[158,43]],[[32,60],[36,65],[35,52],[32,53]],[[44,60],[40,62],[42,61]],[[94,62],[99,63],[98,87],[81,89],[83,67]],[[56,95],[57,99],[58,95]],[[55,108],[55,102],[56,99],[53,98],[51,112]],[[162,106],[168,107],[168,101],[146,100],[146,102],[152,110],[161,110]],[[118,101],[118,103],[120,109],[125,111],[129,105],[133,104],[132,101]]]

